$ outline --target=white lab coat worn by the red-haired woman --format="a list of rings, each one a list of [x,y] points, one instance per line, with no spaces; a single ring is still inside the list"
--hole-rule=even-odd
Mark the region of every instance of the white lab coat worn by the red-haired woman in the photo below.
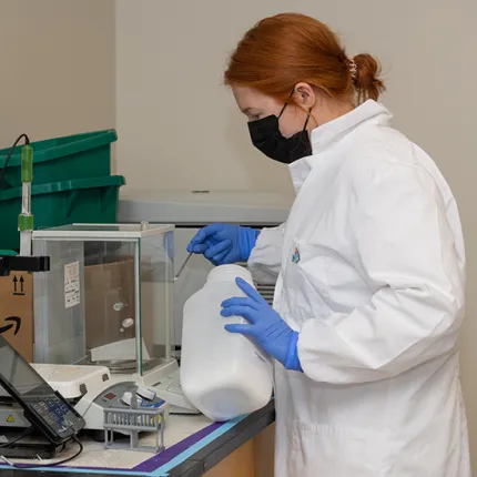
[[[315,129],[286,224],[250,258],[300,332],[304,373],[275,366],[277,477],[470,477],[459,215],[389,120],[367,101]]]

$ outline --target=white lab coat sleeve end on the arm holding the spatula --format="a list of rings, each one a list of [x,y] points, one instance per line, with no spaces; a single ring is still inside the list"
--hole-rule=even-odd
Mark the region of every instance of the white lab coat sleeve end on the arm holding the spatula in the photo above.
[[[255,282],[274,284],[282,266],[283,234],[285,224],[263,229],[248,258],[248,270]]]

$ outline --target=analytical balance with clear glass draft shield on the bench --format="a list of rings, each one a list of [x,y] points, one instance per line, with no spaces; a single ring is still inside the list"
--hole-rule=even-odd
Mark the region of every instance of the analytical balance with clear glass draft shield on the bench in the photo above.
[[[135,386],[140,399],[153,393],[171,413],[195,414],[172,354],[173,231],[148,223],[34,231],[34,254],[50,257],[50,271],[33,276],[34,363],[103,366],[115,386],[106,394]],[[109,386],[90,385],[82,406]]]

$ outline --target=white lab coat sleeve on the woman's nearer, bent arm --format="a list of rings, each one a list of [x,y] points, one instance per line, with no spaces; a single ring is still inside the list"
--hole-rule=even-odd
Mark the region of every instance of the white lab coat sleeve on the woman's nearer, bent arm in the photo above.
[[[457,346],[465,272],[455,237],[461,231],[450,229],[433,177],[398,165],[362,182],[354,184],[358,212],[349,220],[356,264],[374,294],[348,314],[304,323],[298,357],[316,382],[393,377]]]

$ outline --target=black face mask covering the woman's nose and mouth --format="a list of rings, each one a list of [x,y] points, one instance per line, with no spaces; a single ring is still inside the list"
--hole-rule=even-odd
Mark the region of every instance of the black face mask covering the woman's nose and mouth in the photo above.
[[[291,164],[312,154],[312,144],[306,131],[309,112],[303,130],[291,138],[284,138],[280,132],[278,120],[286,106],[287,103],[282,108],[278,118],[272,114],[261,120],[248,122],[248,131],[252,143],[256,149],[275,161]]]

